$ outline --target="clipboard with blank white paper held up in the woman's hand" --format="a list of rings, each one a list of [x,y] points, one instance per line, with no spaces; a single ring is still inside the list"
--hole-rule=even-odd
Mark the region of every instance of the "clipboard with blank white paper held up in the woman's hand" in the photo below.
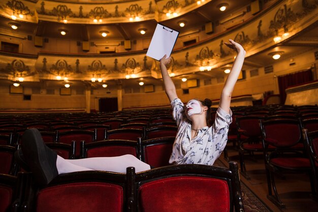
[[[165,54],[169,57],[178,35],[178,31],[158,23],[146,55],[156,60],[160,60]]]

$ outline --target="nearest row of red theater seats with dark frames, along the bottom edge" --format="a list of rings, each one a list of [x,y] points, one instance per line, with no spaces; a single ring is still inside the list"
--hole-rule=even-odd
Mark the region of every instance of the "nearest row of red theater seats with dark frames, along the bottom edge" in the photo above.
[[[238,165],[172,165],[126,174],[82,171],[60,174],[38,186],[29,172],[0,174],[0,212],[236,211],[243,212]]]

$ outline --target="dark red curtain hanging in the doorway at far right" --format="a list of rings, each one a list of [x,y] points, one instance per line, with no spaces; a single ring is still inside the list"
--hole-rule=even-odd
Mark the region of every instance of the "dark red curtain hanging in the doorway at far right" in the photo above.
[[[284,103],[286,99],[285,89],[289,86],[302,84],[305,82],[312,81],[311,69],[307,71],[297,72],[294,74],[288,74],[283,76],[278,76],[278,87],[280,94],[280,103]]]

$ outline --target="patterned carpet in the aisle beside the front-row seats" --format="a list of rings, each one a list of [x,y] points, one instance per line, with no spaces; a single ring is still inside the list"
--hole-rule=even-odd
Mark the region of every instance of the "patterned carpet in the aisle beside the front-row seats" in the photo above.
[[[215,166],[226,167],[220,160]],[[266,204],[241,181],[242,198],[245,212],[272,212]]]

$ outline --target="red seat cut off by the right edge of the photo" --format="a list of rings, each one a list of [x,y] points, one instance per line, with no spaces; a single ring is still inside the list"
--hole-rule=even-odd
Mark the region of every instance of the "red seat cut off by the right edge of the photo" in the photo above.
[[[311,174],[314,179],[314,199],[318,199],[318,130],[309,132],[303,129],[304,144],[309,156]]]

